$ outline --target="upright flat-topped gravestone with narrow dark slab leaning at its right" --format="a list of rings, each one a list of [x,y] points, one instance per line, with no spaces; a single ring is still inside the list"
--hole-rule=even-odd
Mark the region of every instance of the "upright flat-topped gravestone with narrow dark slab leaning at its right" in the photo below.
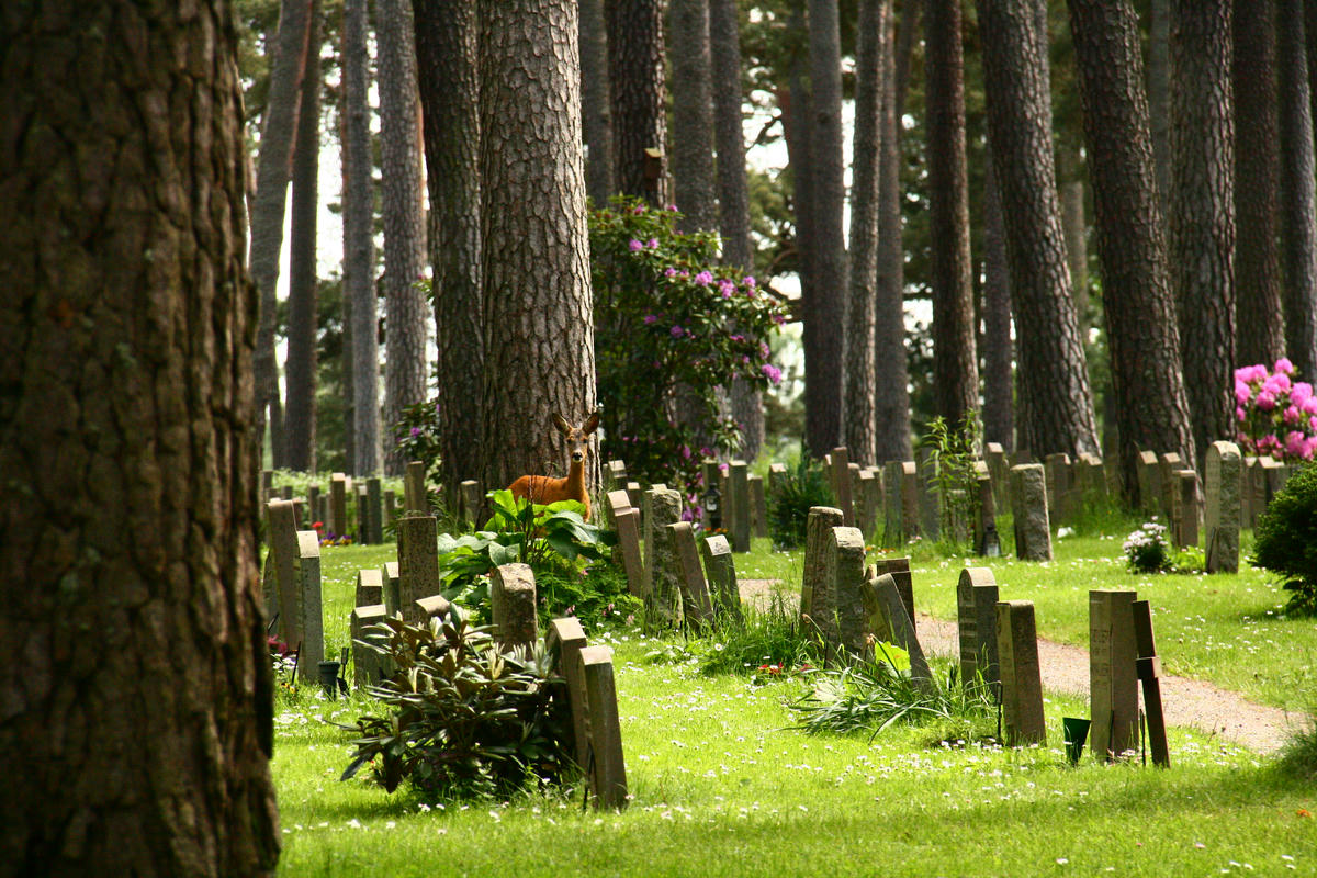
[[[1139,742],[1139,691],[1135,674],[1134,591],[1088,592],[1089,741],[1093,756],[1110,760]]]

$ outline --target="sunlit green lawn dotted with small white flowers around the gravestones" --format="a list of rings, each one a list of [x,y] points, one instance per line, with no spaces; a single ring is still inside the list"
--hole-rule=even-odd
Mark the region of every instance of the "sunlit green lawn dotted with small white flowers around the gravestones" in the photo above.
[[[1048,565],[986,566],[1002,599],[1035,602],[1043,636],[1087,645],[1087,591],[1137,588],[1152,600],[1166,673],[1310,706],[1303,699],[1313,691],[1317,625],[1281,620],[1284,598],[1263,574],[1131,577],[1121,537],[1060,540]],[[391,554],[324,552],[329,648],[348,642],[354,571]],[[797,587],[798,553],[756,541],[736,563],[741,578]],[[952,619],[964,563],[917,548],[919,608]],[[1220,740],[1172,729],[1169,770],[1089,758],[1072,769],[1060,717],[1087,716],[1088,706],[1056,694],[1046,706],[1046,748],[936,745],[939,729],[888,731],[872,742],[810,737],[792,728],[786,708],[805,692],[799,678],[756,687],[648,663],[655,644],[635,631],[591,637],[601,641],[616,650],[635,796],[626,812],[582,812],[579,790],[439,807],[362,779],[338,782],[352,733],[325,720],[350,724],[371,706],[304,688],[277,707],[281,874],[1317,874],[1317,824],[1306,816],[1317,811],[1317,786]]]

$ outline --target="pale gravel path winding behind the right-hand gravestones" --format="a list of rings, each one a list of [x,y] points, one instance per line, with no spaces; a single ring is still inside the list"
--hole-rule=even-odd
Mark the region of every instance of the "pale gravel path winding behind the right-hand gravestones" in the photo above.
[[[773,579],[741,579],[741,599],[763,603],[777,584]],[[925,652],[955,656],[956,623],[919,613],[919,645]],[[1080,646],[1038,641],[1043,687],[1088,696],[1088,650]],[[1299,717],[1275,707],[1256,704],[1212,683],[1187,677],[1162,677],[1162,703],[1167,725],[1197,728],[1258,753],[1274,753],[1285,742]]]

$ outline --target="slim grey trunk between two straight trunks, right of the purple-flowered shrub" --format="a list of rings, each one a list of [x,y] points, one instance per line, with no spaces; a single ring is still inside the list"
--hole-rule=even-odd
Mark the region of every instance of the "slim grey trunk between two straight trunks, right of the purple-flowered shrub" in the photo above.
[[[874,296],[878,272],[878,136],[888,0],[861,0],[855,45],[855,143],[851,150],[851,275],[846,313],[846,446],[863,466],[877,462]]]

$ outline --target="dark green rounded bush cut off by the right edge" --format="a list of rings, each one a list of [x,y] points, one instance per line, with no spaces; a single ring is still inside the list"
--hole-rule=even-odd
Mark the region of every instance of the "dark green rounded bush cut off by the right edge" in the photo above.
[[[1258,519],[1252,565],[1285,577],[1285,612],[1317,615],[1317,466],[1289,478]]]

